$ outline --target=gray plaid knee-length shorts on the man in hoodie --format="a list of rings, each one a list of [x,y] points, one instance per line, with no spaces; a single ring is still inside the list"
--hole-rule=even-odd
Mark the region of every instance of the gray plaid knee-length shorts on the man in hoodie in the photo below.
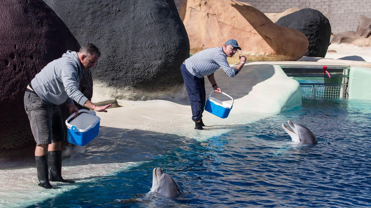
[[[36,145],[52,144],[52,142],[65,140],[59,105],[46,103],[36,93],[26,91],[24,93],[24,110],[30,120]]]

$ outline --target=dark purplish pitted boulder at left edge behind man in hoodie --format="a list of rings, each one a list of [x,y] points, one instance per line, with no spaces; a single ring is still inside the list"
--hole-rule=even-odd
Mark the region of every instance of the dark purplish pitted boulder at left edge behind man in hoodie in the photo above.
[[[26,85],[47,63],[80,46],[42,0],[0,0],[0,5],[0,152],[4,158],[22,151],[22,158],[33,155],[36,145],[24,111]]]

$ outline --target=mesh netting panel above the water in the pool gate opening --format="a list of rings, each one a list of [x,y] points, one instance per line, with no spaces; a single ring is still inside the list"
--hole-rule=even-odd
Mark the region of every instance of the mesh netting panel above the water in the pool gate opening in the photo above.
[[[347,84],[300,83],[300,87],[305,98],[348,98]]]

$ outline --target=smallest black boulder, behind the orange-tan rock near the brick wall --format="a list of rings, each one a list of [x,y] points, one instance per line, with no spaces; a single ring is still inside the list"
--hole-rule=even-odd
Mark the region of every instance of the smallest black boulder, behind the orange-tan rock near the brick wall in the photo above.
[[[276,24],[298,30],[308,38],[309,46],[305,56],[325,57],[330,44],[331,25],[320,11],[301,9],[281,17]]]

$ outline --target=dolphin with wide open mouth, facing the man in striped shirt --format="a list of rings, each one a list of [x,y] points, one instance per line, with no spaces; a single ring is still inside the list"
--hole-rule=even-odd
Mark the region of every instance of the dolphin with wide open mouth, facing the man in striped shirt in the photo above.
[[[317,144],[317,137],[311,130],[301,124],[294,124],[291,121],[287,121],[287,123],[292,130],[287,128],[285,124],[282,124],[282,128],[290,135],[292,141],[304,144]]]

